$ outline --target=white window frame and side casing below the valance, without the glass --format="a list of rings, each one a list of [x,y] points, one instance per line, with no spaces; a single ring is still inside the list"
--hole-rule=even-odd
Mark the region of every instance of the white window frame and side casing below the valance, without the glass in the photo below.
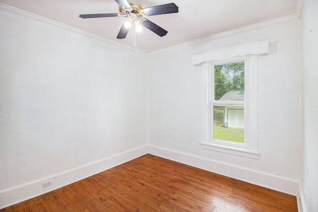
[[[227,64],[231,62],[244,61],[244,101],[237,101],[237,103],[244,105],[244,143],[231,142],[231,141],[215,141],[213,140],[213,103],[227,103],[226,101],[214,100],[214,65]],[[205,71],[207,71],[207,129],[206,139],[202,140],[201,147],[203,149],[214,150],[249,158],[258,158],[258,120],[257,120],[257,103],[258,103],[258,89],[257,89],[257,68],[258,58],[255,55],[246,55],[244,57],[234,57],[222,61],[210,61],[205,64]],[[251,75],[252,73],[252,75]],[[253,97],[252,97],[253,96]],[[255,118],[256,117],[256,118]],[[252,127],[254,126],[254,127]]]

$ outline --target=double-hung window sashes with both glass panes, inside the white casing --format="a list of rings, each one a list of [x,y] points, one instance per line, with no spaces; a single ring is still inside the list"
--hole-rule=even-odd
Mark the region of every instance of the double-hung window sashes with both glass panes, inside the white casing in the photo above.
[[[211,139],[209,142],[246,146],[245,60],[211,64]],[[245,109],[245,110],[244,110]]]

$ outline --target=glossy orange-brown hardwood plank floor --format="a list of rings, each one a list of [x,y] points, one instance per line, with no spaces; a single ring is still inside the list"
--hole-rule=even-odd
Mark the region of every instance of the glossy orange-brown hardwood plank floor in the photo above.
[[[0,212],[296,212],[296,197],[146,154]]]

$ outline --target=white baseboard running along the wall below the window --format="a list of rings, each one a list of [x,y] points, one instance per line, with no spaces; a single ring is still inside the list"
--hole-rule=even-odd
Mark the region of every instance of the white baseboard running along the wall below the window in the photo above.
[[[198,157],[196,155],[190,155],[184,152],[172,151],[170,149],[165,149],[154,145],[149,146],[149,153],[276,191],[295,196],[298,195],[299,181],[294,179],[281,177],[258,170],[252,170],[241,166],[235,166],[217,160]]]

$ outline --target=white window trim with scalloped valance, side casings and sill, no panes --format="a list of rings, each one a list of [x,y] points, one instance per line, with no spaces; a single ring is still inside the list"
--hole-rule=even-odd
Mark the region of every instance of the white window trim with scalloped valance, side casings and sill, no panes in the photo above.
[[[235,154],[250,158],[258,158],[258,55],[268,54],[269,41],[252,43],[244,46],[224,49],[192,56],[192,65],[201,64],[202,67],[202,127],[201,127],[201,147],[214,151]],[[212,143],[210,141],[211,127],[211,68],[210,64],[220,63],[234,59],[238,56],[248,58],[247,60],[247,80],[245,81],[247,90],[246,102],[246,139],[245,146],[232,146],[229,144]],[[253,88],[253,89],[249,89]]]

